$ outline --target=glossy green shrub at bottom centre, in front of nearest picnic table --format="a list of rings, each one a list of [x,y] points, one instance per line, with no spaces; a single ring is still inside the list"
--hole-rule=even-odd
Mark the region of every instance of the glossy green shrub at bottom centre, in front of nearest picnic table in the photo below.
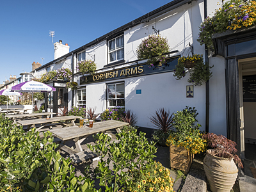
[[[104,133],[98,133],[93,138],[96,140],[95,145],[88,147],[100,156],[94,173],[105,191],[119,191],[124,186],[128,188],[134,182],[132,172],[150,170],[154,163],[152,159],[156,157],[155,143],[148,142],[144,132],[120,132],[116,134],[118,142],[111,141]],[[113,170],[110,170],[110,164],[113,164]],[[88,167],[85,171],[88,172]]]

